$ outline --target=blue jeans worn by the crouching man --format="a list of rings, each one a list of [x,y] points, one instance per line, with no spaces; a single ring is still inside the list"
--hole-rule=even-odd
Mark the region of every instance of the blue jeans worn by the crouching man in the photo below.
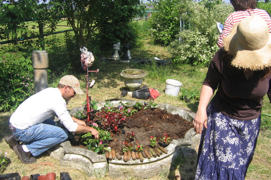
[[[55,126],[53,119],[47,119],[41,124],[23,130],[15,128],[12,133],[18,141],[26,145],[33,156],[40,155],[68,138],[67,131]]]

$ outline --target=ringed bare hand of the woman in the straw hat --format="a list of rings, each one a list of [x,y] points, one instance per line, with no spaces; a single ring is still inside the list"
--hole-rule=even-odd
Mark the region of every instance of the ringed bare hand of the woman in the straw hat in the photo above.
[[[207,128],[207,113],[205,110],[198,110],[193,122],[194,131],[197,134],[201,134],[203,126],[204,128]]]

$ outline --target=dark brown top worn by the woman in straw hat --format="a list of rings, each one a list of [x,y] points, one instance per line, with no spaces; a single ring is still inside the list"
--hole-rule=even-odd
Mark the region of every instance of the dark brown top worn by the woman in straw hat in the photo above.
[[[251,120],[260,116],[263,96],[271,103],[271,74],[254,71],[246,79],[244,70],[230,65],[232,56],[220,48],[210,62],[203,85],[217,89],[212,99],[217,110],[238,120]]]

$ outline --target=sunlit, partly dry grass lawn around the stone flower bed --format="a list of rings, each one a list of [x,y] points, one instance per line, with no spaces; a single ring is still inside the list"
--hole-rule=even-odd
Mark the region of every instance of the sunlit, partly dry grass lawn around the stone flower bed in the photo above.
[[[161,59],[170,58],[169,53],[165,47],[153,46],[148,43],[148,40],[143,40],[144,46],[138,49],[131,49],[132,57],[139,58],[153,58],[158,57]],[[143,84],[148,85],[150,88],[156,88],[160,91],[160,96],[155,100],[155,103],[168,103],[176,105],[179,107],[187,108],[192,111],[197,110],[197,100],[192,100],[190,104],[185,103],[183,100],[180,100],[180,92],[178,96],[172,97],[164,94],[165,81],[166,79],[176,79],[182,82],[182,88],[185,89],[194,89],[195,91],[200,91],[202,82],[205,78],[207,68],[193,68],[188,65],[166,65],[166,66],[156,66],[153,64],[118,64],[118,63],[104,63],[98,58],[96,58],[95,64],[92,66],[93,70],[99,69],[97,74],[91,74],[90,79],[94,79],[96,84],[92,89],[89,90],[89,95],[92,97],[92,100],[102,102],[107,99],[120,97],[120,93],[125,85],[123,83],[123,78],[120,76],[120,72],[123,69],[127,68],[138,68],[145,70],[147,76],[143,79]],[[74,74],[79,80],[81,87],[86,91],[86,74]],[[58,83],[59,78],[52,77],[49,82],[50,87],[55,87]],[[137,100],[127,95],[125,99]],[[76,98],[72,98],[68,103],[68,109],[73,107],[82,106],[83,102],[86,99],[86,95],[76,95]],[[41,102],[42,103],[42,102]],[[271,106],[269,104],[267,96],[264,97],[262,113],[269,114]],[[48,172],[55,172],[57,174],[57,180],[60,179],[60,172],[68,172],[72,179],[86,180],[89,179],[85,173],[82,173],[76,169],[69,167],[61,167],[59,161],[48,157],[46,153],[39,155],[37,157],[37,162],[34,164],[21,164],[17,156],[5,143],[4,137],[10,134],[8,130],[8,121],[11,112],[1,113],[0,114],[0,151],[8,152],[7,157],[11,159],[11,164],[0,174],[18,172],[20,176],[30,176],[31,174],[41,174],[45,175]],[[251,162],[251,165],[248,169],[246,180],[249,179],[270,179],[271,178],[271,126],[270,126],[270,117],[262,116],[262,130],[260,132],[257,147],[254,155],[254,159]],[[191,161],[196,161],[196,159],[186,158],[182,161],[180,165],[176,167],[175,174],[173,173],[172,177],[175,175],[181,176],[182,179],[186,179],[187,173],[186,170],[193,169],[195,174],[195,163],[189,163]],[[165,180],[167,177],[168,171],[161,172],[160,176],[150,178],[151,180]],[[190,177],[190,176],[189,176]],[[102,178],[104,180],[112,180],[109,177]],[[131,176],[130,179],[135,179]],[[188,180],[188,179],[187,179]]]

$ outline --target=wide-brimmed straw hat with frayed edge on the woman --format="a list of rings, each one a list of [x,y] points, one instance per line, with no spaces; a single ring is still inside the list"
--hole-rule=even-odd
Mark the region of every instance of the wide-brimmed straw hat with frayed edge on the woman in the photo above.
[[[271,33],[261,16],[242,19],[223,41],[225,50],[234,56],[234,67],[263,70],[271,66]]]

